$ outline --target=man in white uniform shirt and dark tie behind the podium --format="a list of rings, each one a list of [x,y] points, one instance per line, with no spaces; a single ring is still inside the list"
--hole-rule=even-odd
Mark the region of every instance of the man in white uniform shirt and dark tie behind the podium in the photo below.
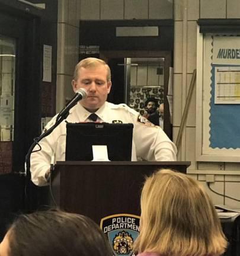
[[[88,95],[69,111],[66,121],[92,121],[89,116],[95,113],[98,116],[97,121],[133,123],[132,161],[137,161],[137,158],[147,161],[176,161],[177,149],[161,128],[154,126],[126,104],[115,105],[106,101],[111,89],[111,72],[103,60],[92,57],[81,60],[76,65],[72,87],[75,92],[79,88],[85,88]],[[47,124],[46,129],[55,120],[56,116]],[[65,161],[65,121],[39,144],[41,151],[31,153],[31,180],[36,185],[47,185],[51,159],[54,157],[56,161]],[[36,149],[39,146],[34,150]]]

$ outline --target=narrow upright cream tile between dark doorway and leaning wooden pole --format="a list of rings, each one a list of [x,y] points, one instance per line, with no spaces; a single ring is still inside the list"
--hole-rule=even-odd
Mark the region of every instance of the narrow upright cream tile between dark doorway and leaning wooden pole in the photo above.
[[[182,118],[182,75],[174,74],[173,78],[173,125],[180,126]]]

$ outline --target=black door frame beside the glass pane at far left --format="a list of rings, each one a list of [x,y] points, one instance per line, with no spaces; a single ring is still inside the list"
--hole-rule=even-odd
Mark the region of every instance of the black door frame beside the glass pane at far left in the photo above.
[[[24,172],[25,154],[40,133],[40,18],[1,3],[0,10],[0,34],[16,40],[12,171]]]

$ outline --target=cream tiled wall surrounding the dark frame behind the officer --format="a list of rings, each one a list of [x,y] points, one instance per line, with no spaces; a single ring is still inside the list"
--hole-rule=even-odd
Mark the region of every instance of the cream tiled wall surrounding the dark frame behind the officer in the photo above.
[[[174,12],[172,12],[172,8]],[[175,21],[173,133],[177,138],[191,76],[196,69],[197,20],[199,18],[240,18],[239,0],[59,0],[57,110],[70,97],[71,79],[78,60],[78,20],[169,19]],[[81,41],[81,39],[80,39]],[[81,43],[81,42],[80,42]],[[196,88],[183,132],[179,161],[191,161],[188,174],[203,184],[214,174],[212,188],[239,199],[240,164],[196,162]],[[209,177],[209,176],[208,176]],[[209,190],[214,203],[239,207],[240,203]]]

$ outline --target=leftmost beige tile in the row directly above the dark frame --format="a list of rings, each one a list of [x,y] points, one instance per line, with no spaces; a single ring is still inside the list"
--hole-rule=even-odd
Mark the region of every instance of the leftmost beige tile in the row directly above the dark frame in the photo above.
[[[81,0],[81,20],[100,20],[100,0]]]

